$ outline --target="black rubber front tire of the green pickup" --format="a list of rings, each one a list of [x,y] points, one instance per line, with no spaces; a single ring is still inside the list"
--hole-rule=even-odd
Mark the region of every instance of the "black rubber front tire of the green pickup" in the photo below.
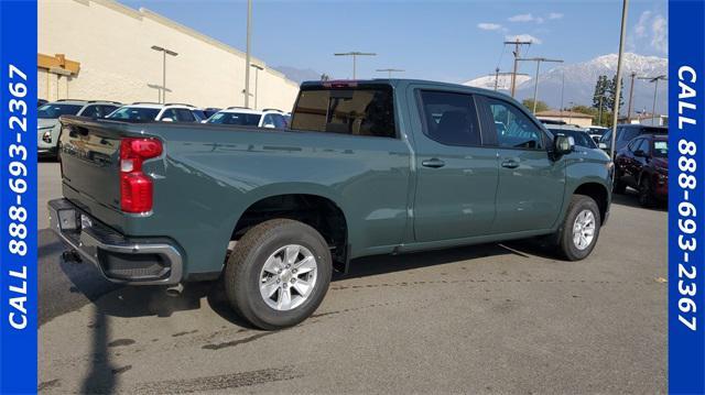
[[[587,245],[577,245],[574,240],[576,220],[578,216],[585,215],[585,212],[589,212],[593,221],[593,238],[585,238],[585,240],[589,239]],[[587,219],[589,219],[588,215],[585,215]],[[568,261],[579,261],[593,252],[595,244],[597,244],[597,239],[599,238],[600,230],[600,215],[599,208],[597,207],[597,202],[593,200],[593,198],[585,195],[573,195],[571,198],[571,204],[568,205],[567,212],[565,215],[565,219],[563,220],[563,224],[556,234],[556,252],[565,257]],[[589,227],[588,227],[589,228]],[[584,228],[585,229],[585,228]],[[586,231],[588,229],[585,229]],[[581,240],[581,243],[583,241]]]

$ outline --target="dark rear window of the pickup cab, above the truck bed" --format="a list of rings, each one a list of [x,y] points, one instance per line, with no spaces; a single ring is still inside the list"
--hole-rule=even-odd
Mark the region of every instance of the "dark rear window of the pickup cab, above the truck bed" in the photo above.
[[[391,87],[306,89],[299,95],[291,129],[394,138]]]

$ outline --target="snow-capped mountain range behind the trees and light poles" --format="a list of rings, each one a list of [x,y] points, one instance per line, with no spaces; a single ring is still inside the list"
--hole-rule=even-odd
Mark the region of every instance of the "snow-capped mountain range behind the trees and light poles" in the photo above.
[[[531,73],[535,64],[521,65],[520,73]],[[539,100],[545,101],[552,108],[561,107],[561,88],[565,77],[565,89],[563,106],[570,107],[574,105],[593,105],[593,94],[595,92],[595,83],[600,75],[608,78],[617,73],[617,54],[609,54],[596,57],[594,59],[576,63],[571,65],[562,65],[549,68],[546,64],[542,64],[546,72],[539,76]],[[668,59],[655,56],[641,56],[638,54],[626,53],[622,64],[623,79],[623,112],[627,111],[629,100],[629,86],[631,83],[630,74],[636,73],[637,77],[655,77],[668,74]],[[502,77],[500,76],[500,80]],[[502,85],[505,89],[509,87],[509,76],[505,77],[507,84]],[[488,86],[489,84],[489,86]],[[465,85],[478,86],[482,88],[494,89],[495,77],[479,77]],[[524,77],[519,79],[517,86],[517,98],[522,100],[533,97],[534,81],[533,77]],[[647,110],[651,112],[653,105],[653,83],[642,79],[634,79],[633,91],[633,111]],[[657,112],[668,113],[668,81],[659,81],[659,91],[657,96]]]

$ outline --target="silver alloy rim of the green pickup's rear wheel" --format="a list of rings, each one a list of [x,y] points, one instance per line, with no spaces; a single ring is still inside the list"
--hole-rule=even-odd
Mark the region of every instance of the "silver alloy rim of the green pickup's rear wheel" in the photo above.
[[[289,244],[271,254],[260,273],[260,294],[275,310],[294,309],[311,296],[318,265],[303,245]]]

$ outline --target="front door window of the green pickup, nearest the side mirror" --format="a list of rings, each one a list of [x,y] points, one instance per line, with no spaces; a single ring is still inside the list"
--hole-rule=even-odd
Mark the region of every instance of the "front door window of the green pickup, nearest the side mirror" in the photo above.
[[[487,98],[490,113],[495,119],[499,146],[510,149],[543,149],[543,133],[535,123],[517,107],[492,98]]]

